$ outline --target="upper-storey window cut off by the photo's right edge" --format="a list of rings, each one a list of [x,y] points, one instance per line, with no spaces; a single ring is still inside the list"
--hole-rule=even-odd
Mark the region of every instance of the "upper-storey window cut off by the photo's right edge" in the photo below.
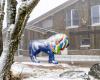
[[[100,23],[100,5],[91,7],[91,23],[92,25]]]

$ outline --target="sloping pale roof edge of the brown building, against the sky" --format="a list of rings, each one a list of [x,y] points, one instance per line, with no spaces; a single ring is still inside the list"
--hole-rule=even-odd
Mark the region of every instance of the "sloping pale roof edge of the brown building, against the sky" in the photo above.
[[[78,1],[78,0],[68,0],[68,1],[66,1],[65,3],[59,5],[58,7],[54,8],[54,9],[48,11],[47,13],[45,13],[45,14],[43,14],[43,15],[41,15],[41,16],[35,18],[34,20],[28,22],[26,26],[30,25],[31,23],[32,23],[32,25],[34,25],[34,24],[40,22],[41,20],[44,20],[44,19],[47,18],[48,16],[52,16],[53,14],[59,12],[60,10],[64,9],[65,7],[74,4],[74,3],[77,2],[77,1]],[[27,27],[26,27],[26,28],[27,28]]]

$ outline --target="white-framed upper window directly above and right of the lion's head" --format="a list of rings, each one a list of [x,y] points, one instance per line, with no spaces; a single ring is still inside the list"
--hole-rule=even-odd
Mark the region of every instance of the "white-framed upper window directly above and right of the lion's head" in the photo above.
[[[76,9],[72,9],[71,11],[67,12],[67,26],[76,27],[79,25],[79,15]]]

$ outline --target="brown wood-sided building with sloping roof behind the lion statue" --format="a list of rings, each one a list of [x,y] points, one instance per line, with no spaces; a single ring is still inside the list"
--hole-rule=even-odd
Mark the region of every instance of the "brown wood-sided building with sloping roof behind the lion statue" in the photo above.
[[[26,25],[20,47],[28,54],[31,40],[65,33],[70,40],[68,54],[99,55],[100,0],[69,0]]]

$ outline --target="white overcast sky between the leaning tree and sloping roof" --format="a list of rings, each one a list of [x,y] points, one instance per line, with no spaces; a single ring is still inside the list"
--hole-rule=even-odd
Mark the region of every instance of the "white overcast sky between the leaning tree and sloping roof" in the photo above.
[[[31,17],[29,21],[39,17],[40,15],[48,12],[49,10],[57,7],[58,5],[66,2],[68,0],[40,0],[38,5],[35,7],[33,12],[31,13]]]

